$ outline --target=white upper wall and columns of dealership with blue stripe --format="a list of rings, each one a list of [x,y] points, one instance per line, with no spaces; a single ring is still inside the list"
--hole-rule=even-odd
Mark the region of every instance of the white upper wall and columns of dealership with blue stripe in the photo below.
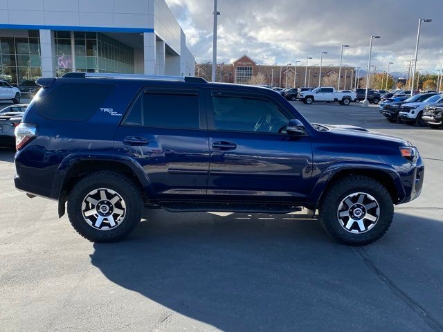
[[[186,36],[164,0],[0,0],[0,28],[41,30],[46,37],[51,30],[143,33],[143,57],[134,50],[135,73],[194,75],[195,59],[186,47]],[[179,60],[159,57],[156,36]],[[45,75],[55,68],[48,45],[42,50]]]

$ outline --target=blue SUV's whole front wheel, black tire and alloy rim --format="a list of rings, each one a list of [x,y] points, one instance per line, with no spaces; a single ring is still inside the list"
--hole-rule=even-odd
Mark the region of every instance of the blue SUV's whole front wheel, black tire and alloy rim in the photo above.
[[[334,183],[325,193],[319,210],[327,234],[352,246],[380,239],[394,216],[388,190],[366,176],[348,176]]]

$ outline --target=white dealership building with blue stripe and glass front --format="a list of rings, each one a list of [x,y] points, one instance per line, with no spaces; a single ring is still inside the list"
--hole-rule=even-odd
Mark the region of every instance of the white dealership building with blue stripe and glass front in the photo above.
[[[195,57],[164,0],[1,0],[0,77],[70,71],[194,75]]]

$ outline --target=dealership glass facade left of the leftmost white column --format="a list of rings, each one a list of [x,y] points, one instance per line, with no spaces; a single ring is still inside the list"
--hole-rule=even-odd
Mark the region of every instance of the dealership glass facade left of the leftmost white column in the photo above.
[[[37,30],[28,37],[0,37],[0,78],[11,84],[42,76],[40,39]]]

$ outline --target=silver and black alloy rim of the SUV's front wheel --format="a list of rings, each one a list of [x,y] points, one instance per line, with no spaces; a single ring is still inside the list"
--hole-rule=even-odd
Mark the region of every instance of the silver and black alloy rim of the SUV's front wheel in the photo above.
[[[365,192],[347,195],[337,209],[337,218],[341,227],[353,234],[368,232],[377,224],[379,217],[379,203],[374,196]]]

